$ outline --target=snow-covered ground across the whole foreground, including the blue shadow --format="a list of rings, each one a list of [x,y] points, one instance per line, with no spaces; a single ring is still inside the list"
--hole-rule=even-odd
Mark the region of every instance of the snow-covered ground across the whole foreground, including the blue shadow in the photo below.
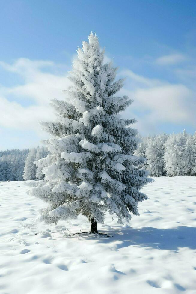
[[[196,177],[155,180],[131,226],[98,225],[113,238],[65,238],[87,220],[37,222],[44,204],[25,182],[0,182],[0,292],[195,294]]]

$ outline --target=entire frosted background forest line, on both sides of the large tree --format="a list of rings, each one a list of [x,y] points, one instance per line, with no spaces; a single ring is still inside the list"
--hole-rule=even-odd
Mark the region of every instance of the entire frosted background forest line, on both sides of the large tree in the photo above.
[[[0,181],[40,180],[44,175],[34,161],[46,157],[45,147],[0,151]],[[150,176],[195,176],[196,132],[159,134],[141,138],[134,155],[146,158],[142,165]]]

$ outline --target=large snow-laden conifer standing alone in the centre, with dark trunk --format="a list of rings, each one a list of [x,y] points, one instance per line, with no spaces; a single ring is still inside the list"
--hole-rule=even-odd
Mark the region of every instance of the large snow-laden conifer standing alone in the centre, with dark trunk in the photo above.
[[[91,221],[91,233],[104,212],[116,214],[118,222],[137,215],[137,204],[147,199],[140,192],[151,182],[133,155],[137,131],[130,127],[135,119],[121,119],[118,113],[131,104],[127,96],[114,96],[123,80],[114,81],[116,68],[103,64],[98,38],[89,35],[73,61],[66,101],[53,100],[56,122],[42,122],[53,135],[46,140],[50,154],[36,162],[45,179],[31,190],[49,205],[42,211],[46,223],[76,218],[80,213]]]

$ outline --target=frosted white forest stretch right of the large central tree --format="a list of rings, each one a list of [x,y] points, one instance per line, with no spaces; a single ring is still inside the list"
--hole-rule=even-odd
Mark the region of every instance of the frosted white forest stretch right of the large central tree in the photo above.
[[[146,158],[142,168],[150,176],[195,176],[196,132],[187,134],[159,134],[141,138],[136,156]]]

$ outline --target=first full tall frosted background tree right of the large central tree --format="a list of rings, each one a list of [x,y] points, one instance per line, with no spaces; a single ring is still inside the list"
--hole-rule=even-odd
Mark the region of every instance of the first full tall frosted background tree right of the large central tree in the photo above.
[[[147,170],[151,176],[162,176],[162,157],[160,154],[161,146],[158,137],[151,137],[146,149]]]

